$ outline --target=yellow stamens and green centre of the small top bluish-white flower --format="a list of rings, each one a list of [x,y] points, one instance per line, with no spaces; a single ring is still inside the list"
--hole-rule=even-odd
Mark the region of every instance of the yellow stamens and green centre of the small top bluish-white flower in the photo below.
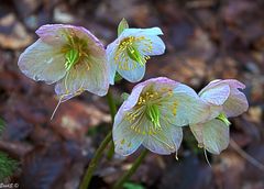
[[[139,46],[142,45],[141,52]],[[143,66],[150,56],[146,56],[146,53],[153,51],[152,41],[145,36],[129,36],[123,38],[116,52],[114,62],[118,64],[119,69],[123,70],[133,70],[138,65]],[[130,58],[133,60],[133,64],[129,64]]]

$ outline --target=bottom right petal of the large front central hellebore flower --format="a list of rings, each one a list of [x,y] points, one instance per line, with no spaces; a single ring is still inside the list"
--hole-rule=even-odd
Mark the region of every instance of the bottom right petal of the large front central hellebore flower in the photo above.
[[[161,155],[175,153],[183,141],[182,127],[175,126],[164,119],[161,119],[161,127],[155,133],[146,134],[143,145],[151,152]]]

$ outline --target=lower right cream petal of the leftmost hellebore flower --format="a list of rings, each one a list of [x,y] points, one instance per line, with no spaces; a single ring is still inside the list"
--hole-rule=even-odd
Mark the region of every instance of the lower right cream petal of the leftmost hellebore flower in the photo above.
[[[74,97],[84,90],[105,96],[109,88],[108,67],[105,57],[90,57],[73,67],[56,85],[55,91],[61,97]],[[68,99],[64,99],[68,100]]]

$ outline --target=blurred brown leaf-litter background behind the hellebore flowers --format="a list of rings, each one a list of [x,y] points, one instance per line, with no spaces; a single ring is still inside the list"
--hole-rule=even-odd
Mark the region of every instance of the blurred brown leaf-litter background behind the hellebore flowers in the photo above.
[[[63,103],[50,121],[57,103],[54,87],[23,76],[18,57],[43,24],[82,25],[107,45],[125,18],[130,26],[164,32],[166,53],[147,62],[144,79],[166,76],[199,91],[210,80],[234,78],[246,85],[250,109],[231,119],[233,142],[221,155],[208,155],[211,167],[185,129],[179,160],[150,153],[124,188],[263,189],[263,0],[1,0],[0,158],[11,166],[0,160],[1,179],[24,189],[78,187],[111,130],[107,100],[85,92]],[[117,101],[133,86],[121,81],[111,88]],[[91,188],[110,188],[139,154],[105,157]]]

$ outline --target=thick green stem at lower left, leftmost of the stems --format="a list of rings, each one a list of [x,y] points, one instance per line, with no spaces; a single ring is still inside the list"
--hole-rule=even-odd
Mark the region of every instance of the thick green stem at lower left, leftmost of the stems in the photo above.
[[[95,169],[97,168],[98,162],[102,156],[105,148],[108,146],[108,143],[112,140],[112,132],[109,132],[105,140],[101,142],[100,146],[96,151],[94,158],[91,159],[88,169],[86,170],[85,177],[80,184],[79,189],[87,189],[90,185],[90,180]]]

